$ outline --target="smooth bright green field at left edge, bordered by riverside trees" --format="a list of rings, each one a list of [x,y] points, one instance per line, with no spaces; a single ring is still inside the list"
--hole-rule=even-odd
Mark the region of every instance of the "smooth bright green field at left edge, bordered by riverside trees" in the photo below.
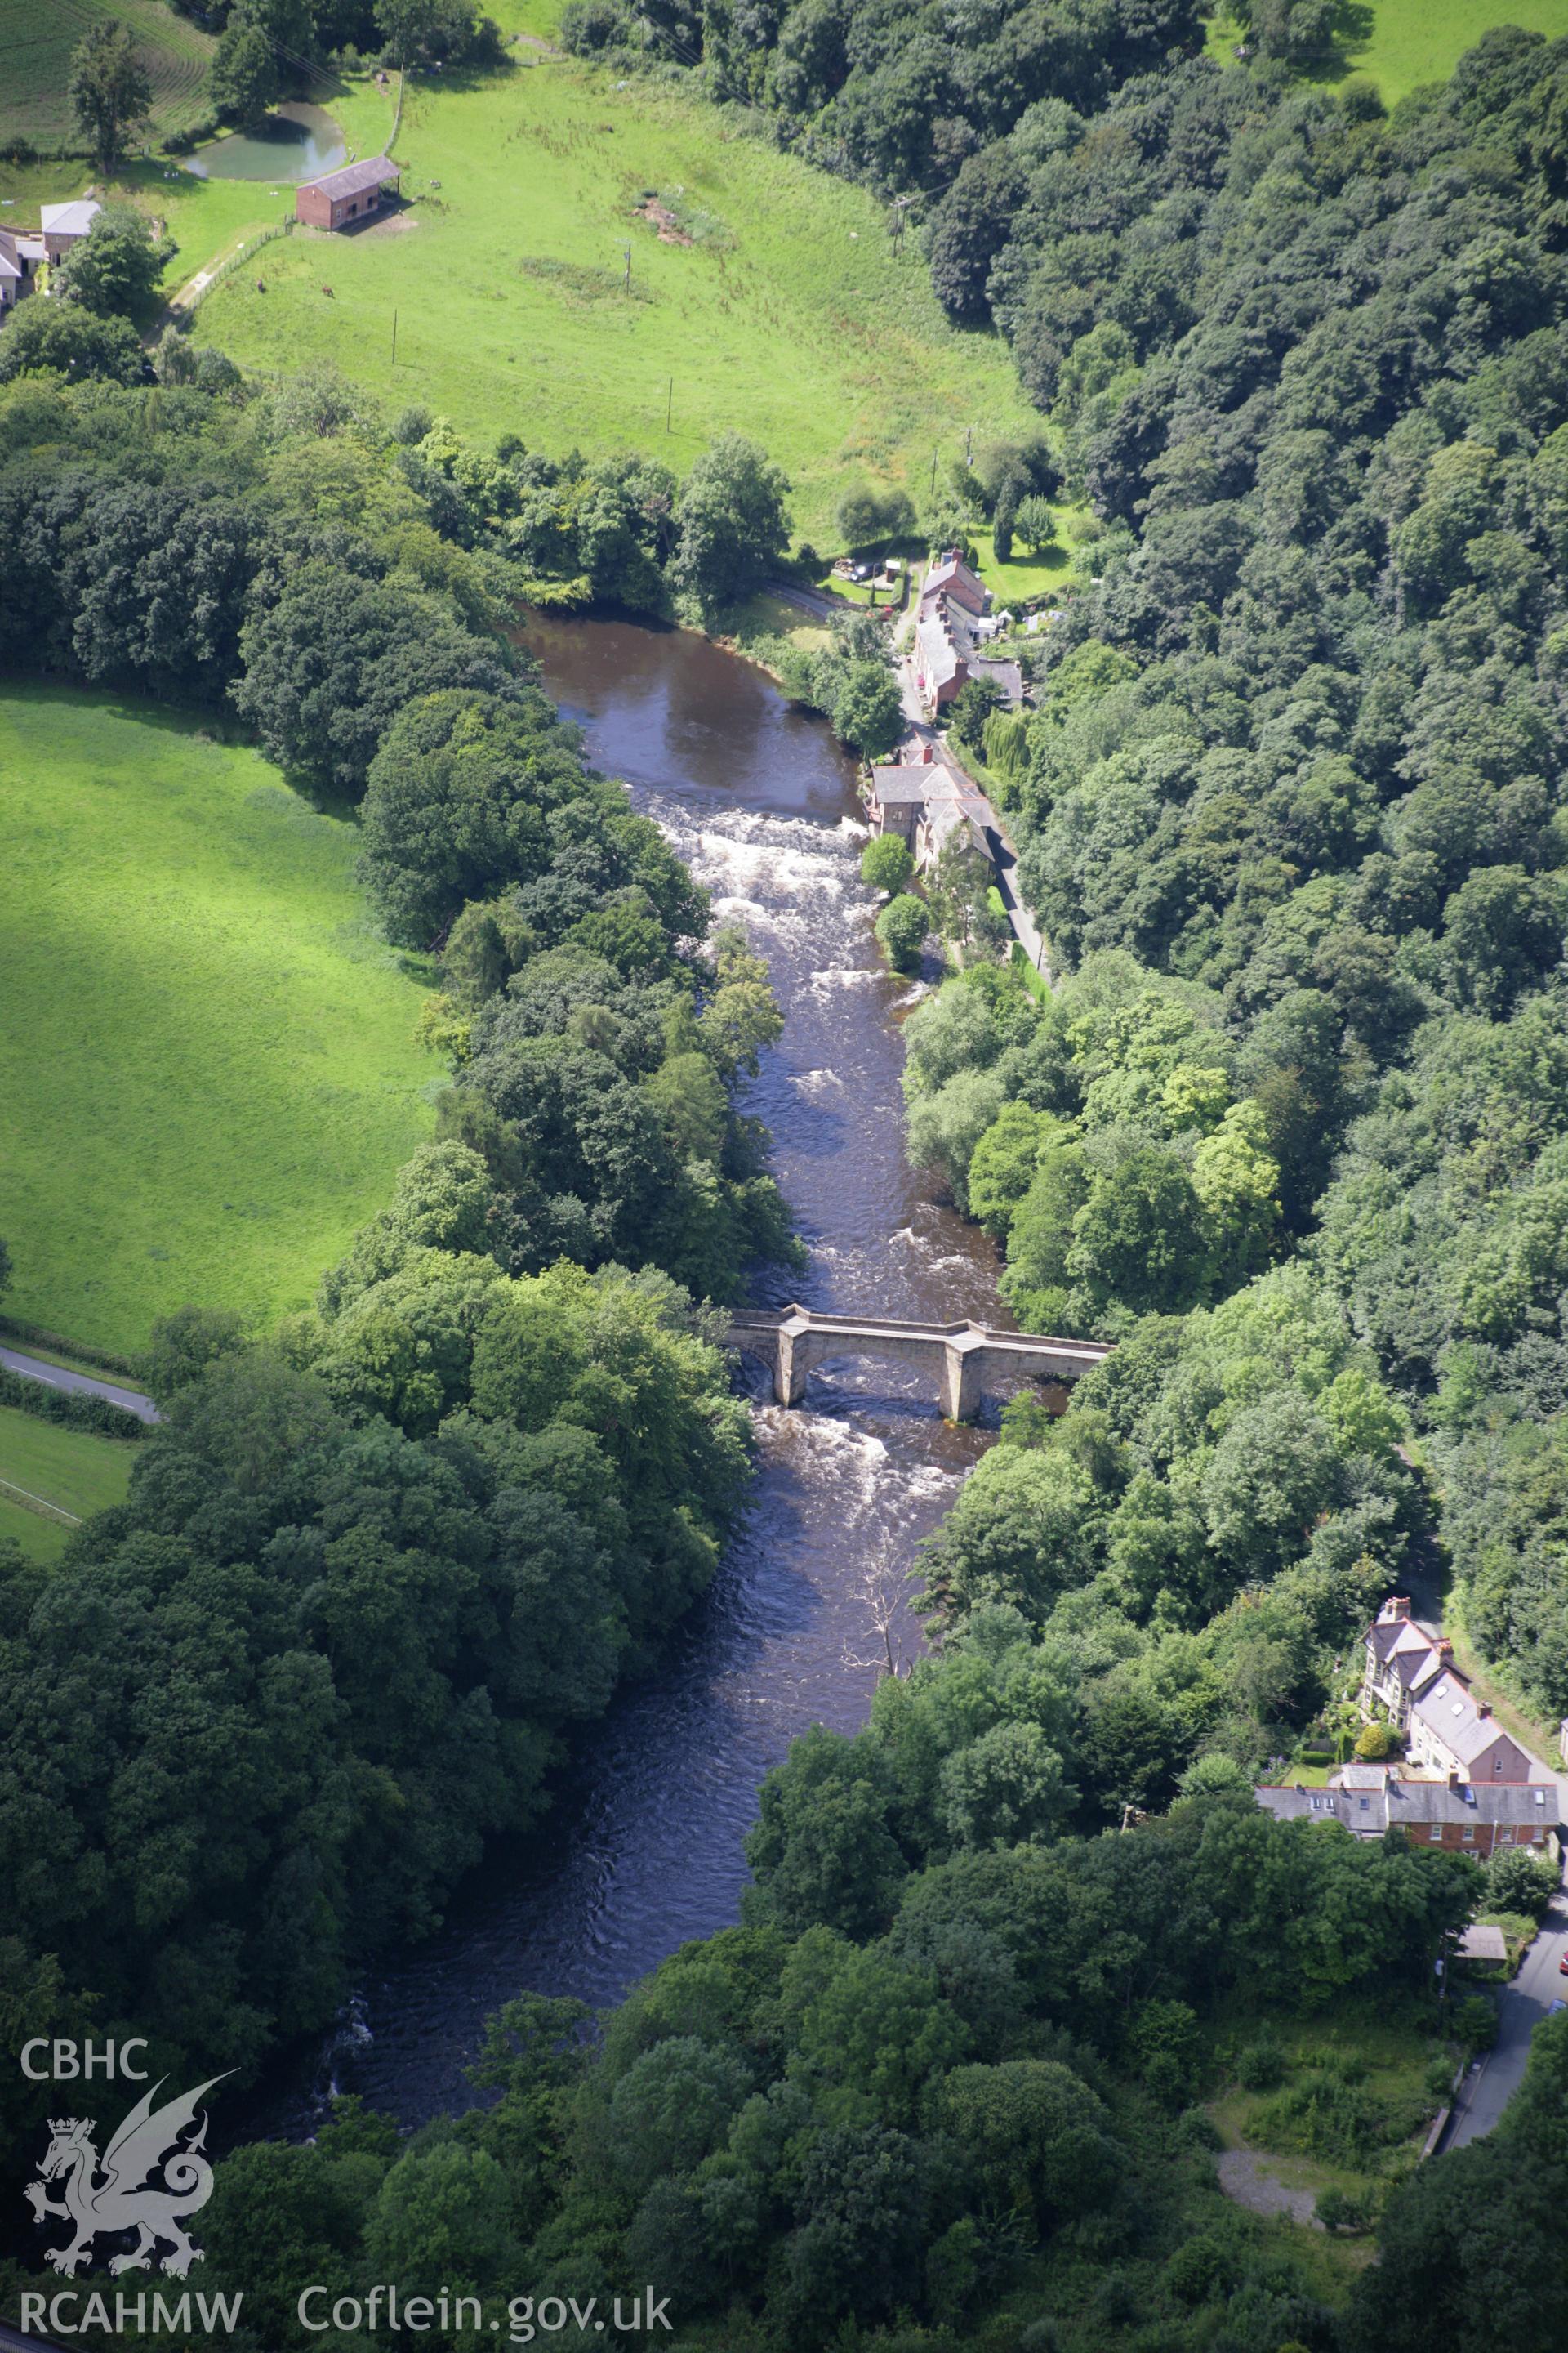
[[[303,1306],[440,1080],[353,826],[190,718],[21,685],[0,809],[7,1313],[132,1351],[186,1299]]]

